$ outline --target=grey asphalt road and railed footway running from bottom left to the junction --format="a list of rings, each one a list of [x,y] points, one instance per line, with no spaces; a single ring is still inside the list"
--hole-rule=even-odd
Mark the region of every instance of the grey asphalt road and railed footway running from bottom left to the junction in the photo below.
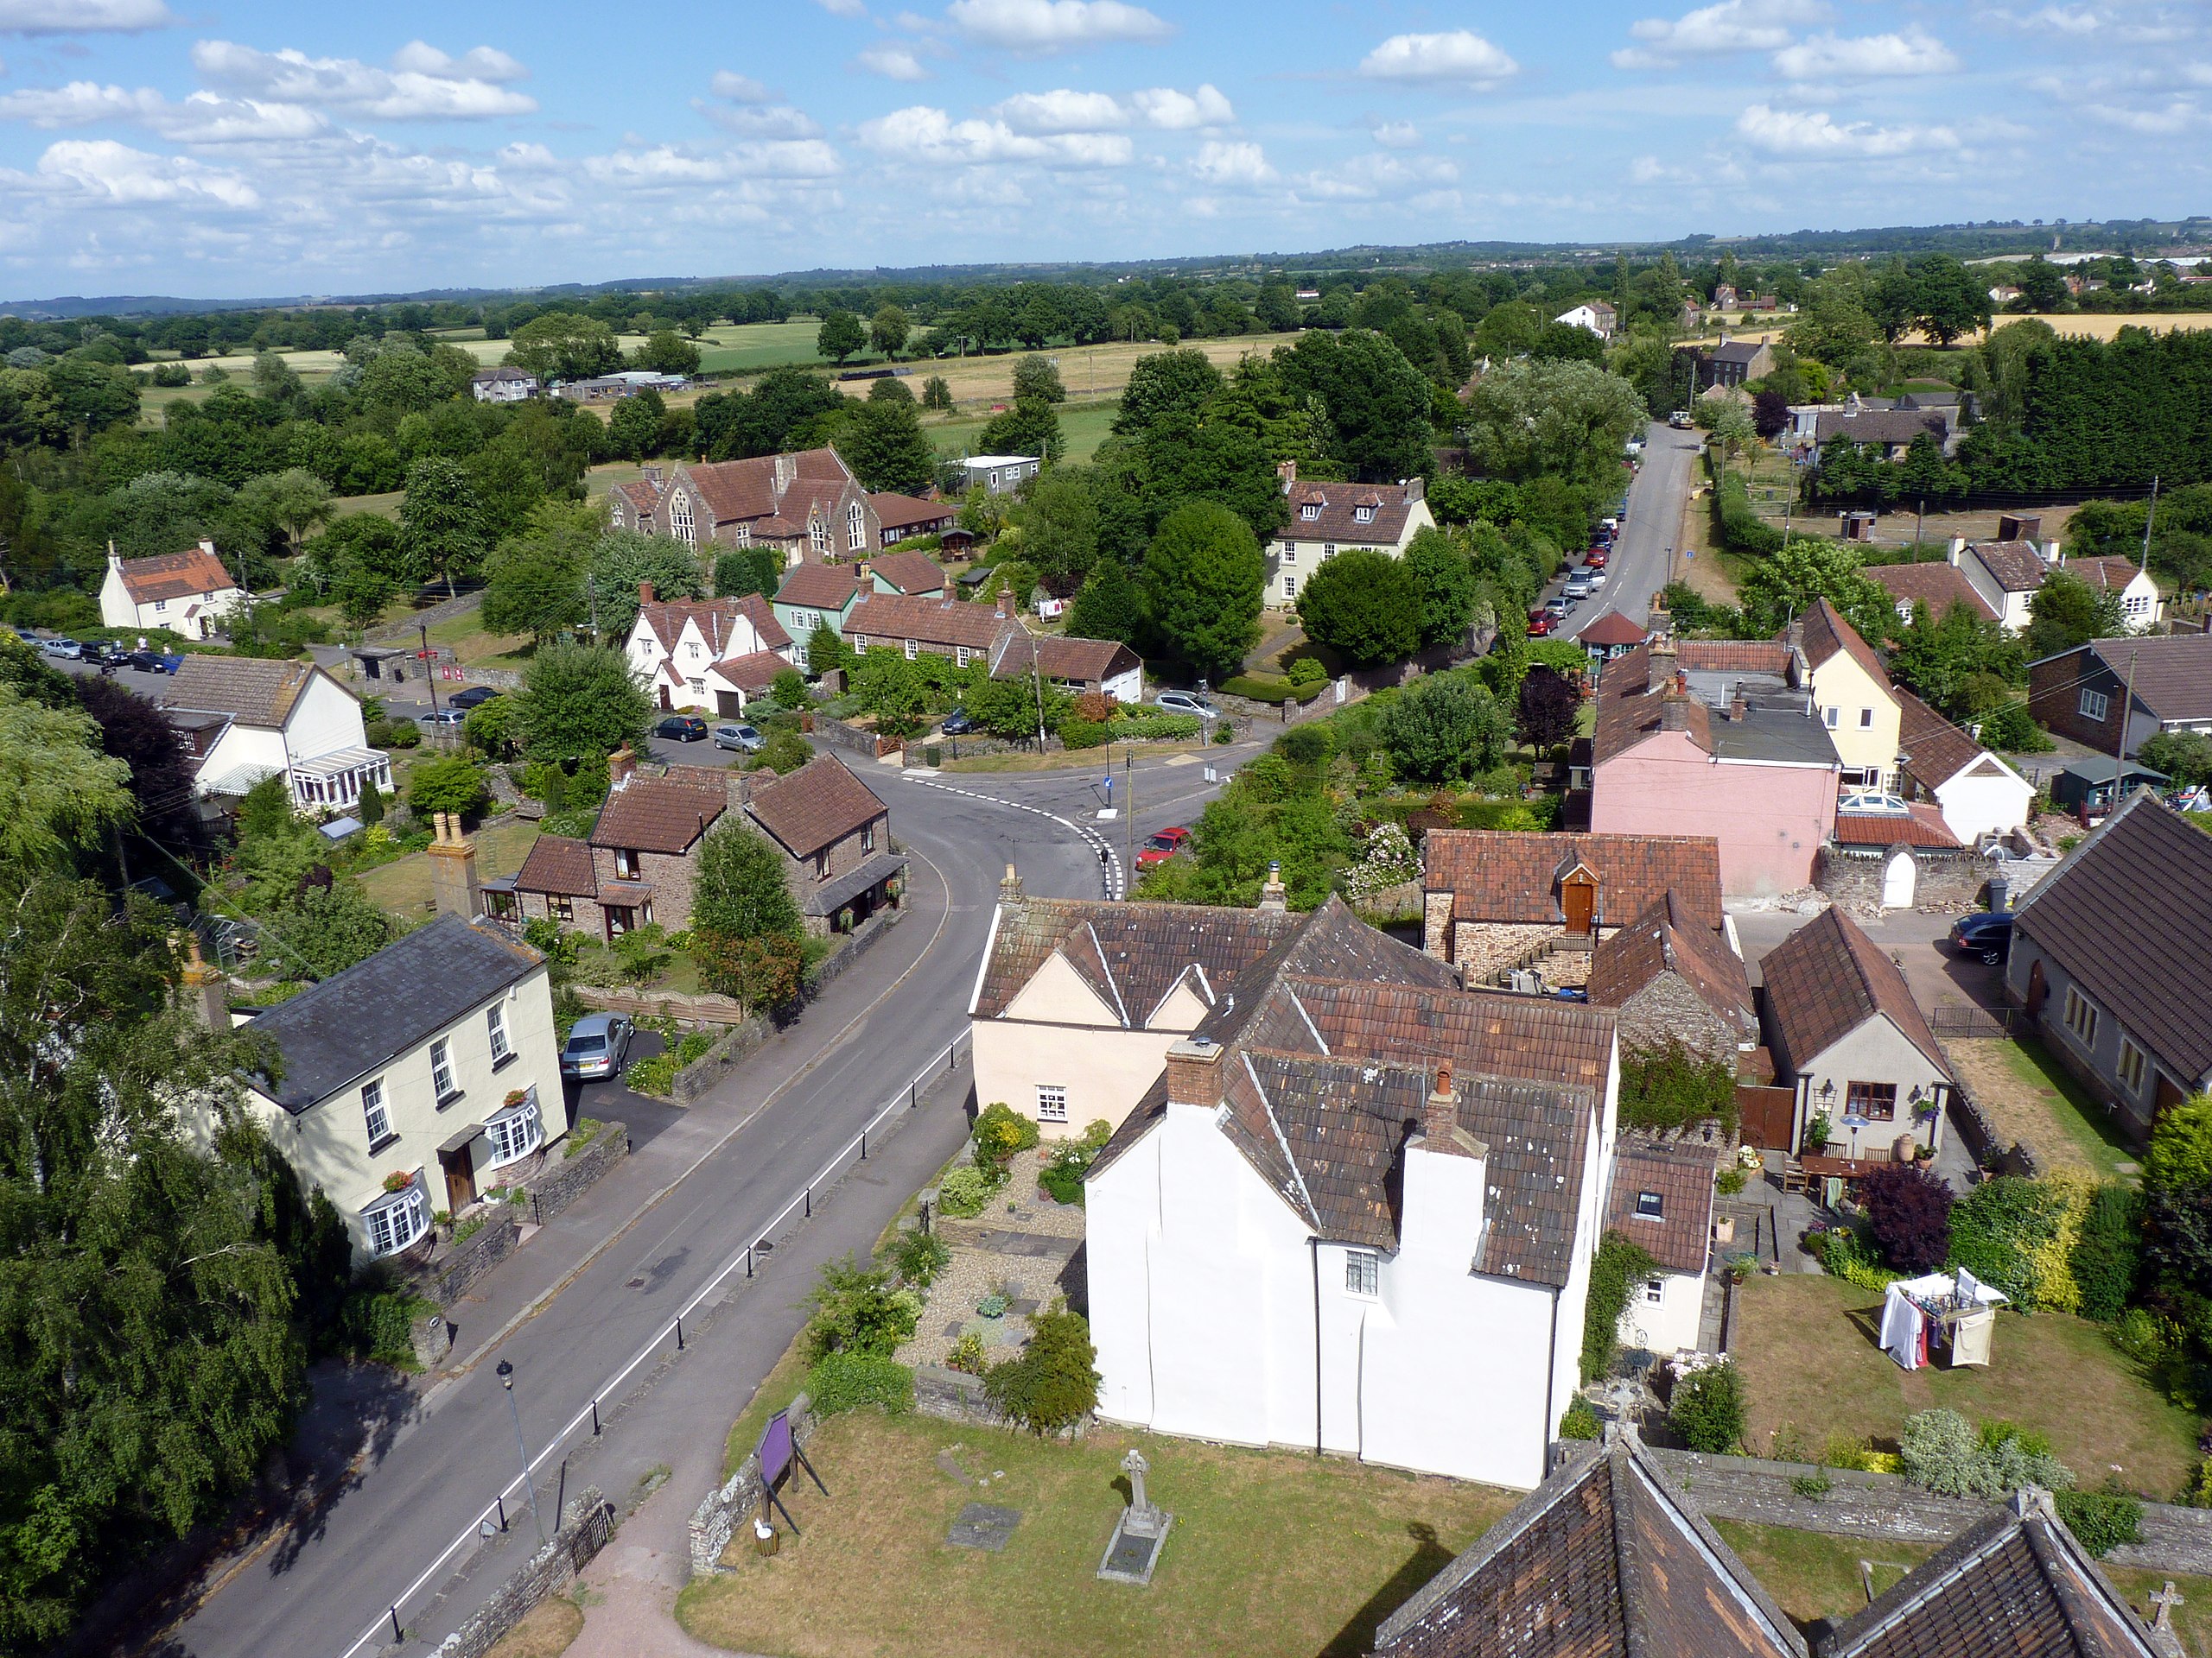
[[[681,1521],[719,1479],[730,1421],[796,1335],[814,1269],[872,1247],[958,1150],[964,1077],[942,1074],[894,1116],[887,1141],[872,1136],[867,1163],[816,1187],[814,1218],[759,1262],[750,1284],[739,1271],[686,1320],[681,1353],[668,1340],[675,1311],[761,1238],[894,1090],[925,1068],[942,1072],[947,1046],[967,1030],[967,988],[1009,860],[1033,893],[1099,895],[1117,873],[1099,860],[1106,833],[1126,844],[1188,822],[1219,787],[1206,783],[1206,763],[1225,780],[1252,752],[1139,765],[1135,822],[1097,820],[1104,767],[947,778],[860,767],[914,853],[905,920],[699,1103],[644,1101],[615,1081],[582,1088],[580,1112],[630,1123],[630,1156],[451,1311],[456,1344],[436,1375],[378,1397],[367,1415],[332,1406],[314,1415],[343,1452],[338,1488],[279,1539],[226,1563],[157,1651],[367,1654],[392,1640],[396,1601],[407,1631],[396,1649],[431,1651],[522,1559],[518,1536],[535,1541],[515,1481],[509,1397],[549,1517],[582,1483],[624,1505],[641,1499],[595,1572],[611,1576],[608,1607],[659,1618],[688,1561]],[[692,754],[706,760],[708,747]],[[1128,785],[1117,794],[1126,805]],[[650,1357],[611,1388],[639,1353]],[[513,1362],[513,1395],[493,1360]],[[325,1386],[336,1384],[319,1375],[319,1399]],[[540,1457],[571,1419],[588,1419],[593,1399],[602,1433]],[[511,1528],[478,1550],[473,1528],[502,1488]],[[460,1539],[469,1545],[438,1565]],[[672,1636],[666,1618],[653,1627]],[[637,1629],[608,1640],[591,1649],[688,1649],[648,1645]]]

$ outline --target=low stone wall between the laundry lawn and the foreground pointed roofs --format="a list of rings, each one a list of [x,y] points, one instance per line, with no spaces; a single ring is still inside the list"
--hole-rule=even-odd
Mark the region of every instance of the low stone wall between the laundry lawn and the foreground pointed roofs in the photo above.
[[[1860,1475],[1849,1468],[1814,1468],[1801,1461],[1754,1457],[1703,1457],[1694,1450],[1659,1450],[1652,1457],[1705,1519],[1747,1525],[1787,1525],[1798,1532],[1863,1536],[1893,1543],[1949,1543],[1995,1503],[1936,1497],[1900,1475]],[[1803,1497],[1792,1479],[1825,1477],[1827,1492]],[[2108,1556],[2112,1565],[2143,1572],[2212,1572],[2212,1510],[2143,1503],[2139,1543]]]

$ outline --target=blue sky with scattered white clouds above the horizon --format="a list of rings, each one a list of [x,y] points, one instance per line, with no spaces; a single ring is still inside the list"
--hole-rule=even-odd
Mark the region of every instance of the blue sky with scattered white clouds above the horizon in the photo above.
[[[2212,4],[0,0],[0,294],[2212,206]]]

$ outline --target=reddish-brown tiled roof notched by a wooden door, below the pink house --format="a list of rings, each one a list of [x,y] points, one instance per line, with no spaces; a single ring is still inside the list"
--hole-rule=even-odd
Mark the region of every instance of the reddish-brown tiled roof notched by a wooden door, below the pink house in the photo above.
[[[1433,829],[1420,844],[1420,884],[1451,893],[1455,922],[1564,922],[1557,884],[1577,862],[1597,875],[1601,926],[1619,926],[1670,891],[1699,924],[1721,924],[1721,842],[1712,836]]]

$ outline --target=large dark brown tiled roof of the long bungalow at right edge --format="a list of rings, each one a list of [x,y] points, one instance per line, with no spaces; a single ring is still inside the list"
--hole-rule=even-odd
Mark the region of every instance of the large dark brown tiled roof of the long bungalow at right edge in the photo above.
[[[2013,928],[2177,1081],[2212,1072],[2212,836],[2132,794],[2020,900]]]

